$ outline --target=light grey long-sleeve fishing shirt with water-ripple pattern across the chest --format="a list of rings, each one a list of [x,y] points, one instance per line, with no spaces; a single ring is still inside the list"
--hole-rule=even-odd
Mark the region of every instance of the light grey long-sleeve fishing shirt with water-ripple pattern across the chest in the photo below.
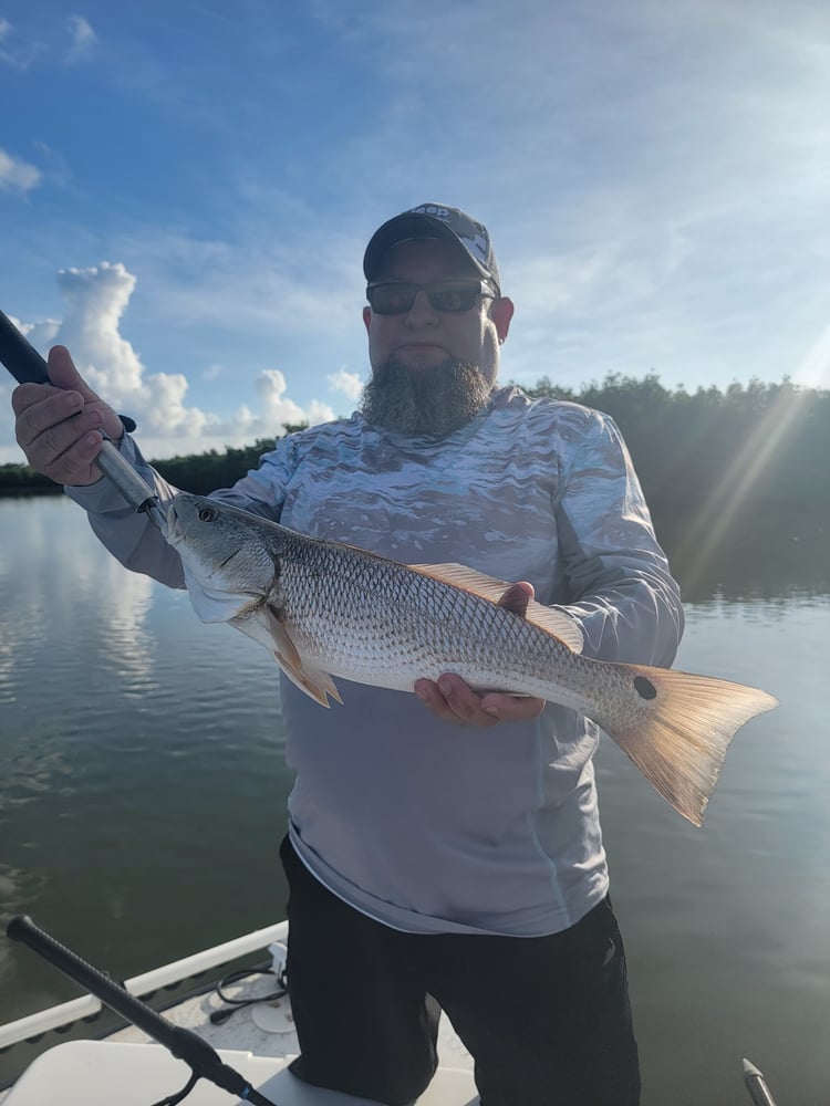
[[[125,436],[165,501],[173,490]],[[128,568],[184,586],[178,554],[105,480],[68,489]],[[563,606],[585,656],[668,666],[678,588],[625,446],[605,415],[512,387],[442,440],[350,419],[290,435],[215,498],[404,563],[527,580]],[[339,679],[324,709],[286,678],[289,832],[356,909],[419,932],[557,932],[608,891],[596,726],[548,703],[533,721],[463,728],[414,695]]]

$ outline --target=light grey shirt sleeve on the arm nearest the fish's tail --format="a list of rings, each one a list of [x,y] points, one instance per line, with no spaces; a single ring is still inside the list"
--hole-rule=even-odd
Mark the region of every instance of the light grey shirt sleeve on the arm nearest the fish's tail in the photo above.
[[[652,525],[625,444],[591,413],[554,504],[560,555],[583,653],[667,667],[683,633],[679,587]]]

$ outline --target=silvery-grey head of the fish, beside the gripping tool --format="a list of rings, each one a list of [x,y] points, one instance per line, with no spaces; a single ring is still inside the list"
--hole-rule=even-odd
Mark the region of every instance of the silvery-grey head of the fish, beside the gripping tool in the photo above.
[[[205,495],[179,492],[167,511],[167,541],[203,622],[229,622],[264,602],[279,575],[281,528]],[[269,538],[271,540],[269,541]]]

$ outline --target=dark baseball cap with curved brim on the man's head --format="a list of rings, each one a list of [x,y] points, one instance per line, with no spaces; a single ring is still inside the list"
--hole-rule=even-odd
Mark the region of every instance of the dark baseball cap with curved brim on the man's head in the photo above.
[[[366,280],[374,280],[381,261],[393,246],[423,238],[439,238],[460,246],[475,271],[501,294],[499,269],[487,228],[458,208],[444,204],[419,204],[378,227],[363,255]]]

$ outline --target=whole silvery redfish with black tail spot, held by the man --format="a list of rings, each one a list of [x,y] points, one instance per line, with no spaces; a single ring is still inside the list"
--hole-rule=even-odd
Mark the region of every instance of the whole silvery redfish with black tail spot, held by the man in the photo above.
[[[448,671],[547,699],[602,727],[695,825],[736,731],[777,703],[710,676],[583,657],[567,611],[519,604],[513,585],[464,565],[400,564],[186,492],[167,541],[197,615],[266,646],[321,706],[342,702],[332,677],[412,691]]]

